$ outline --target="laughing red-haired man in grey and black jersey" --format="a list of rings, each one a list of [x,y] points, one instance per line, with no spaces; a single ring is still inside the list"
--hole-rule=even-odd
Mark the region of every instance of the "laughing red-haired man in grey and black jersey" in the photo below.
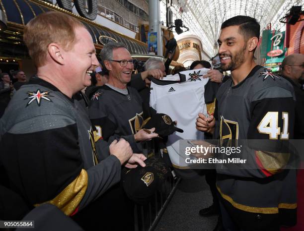
[[[19,89],[0,120],[0,167],[10,189],[29,207],[50,203],[68,216],[81,214],[119,182],[122,164],[145,166],[146,158],[132,156],[121,139],[98,161],[95,131],[85,108],[73,99],[90,85],[89,72],[99,65],[80,21],[56,11],[40,14],[26,25],[24,41],[37,77]]]

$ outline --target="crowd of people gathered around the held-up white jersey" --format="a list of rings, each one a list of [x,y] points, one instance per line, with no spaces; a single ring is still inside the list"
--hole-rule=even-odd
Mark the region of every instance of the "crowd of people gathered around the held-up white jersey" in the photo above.
[[[221,69],[206,60],[190,66],[209,69],[202,104],[213,110],[189,124],[206,141],[276,141],[246,147],[254,168],[202,170],[213,204],[198,213],[219,215],[216,231],[278,231],[297,223],[297,171],[284,169],[292,154],[278,146],[304,138],[304,55],[286,57],[282,75],[273,74],[254,62],[259,34],[254,18],[230,18],[218,40]],[[32,19],[24,42],[37,74],[27,82],[23,71],[1,73],[0,93],[8,97],[0,115],[0,219],[53,214],[61,221],[56,229],[134,230],[121,177],[144,171],[153,155],[163,171],[174,171],[160,153],[167,136],[181,130],[175,118],[150,107],[150,84],[186,69],[168,73],[168,62],[149,58],[134,73],[121,43],[106,44],[97,58],[85,26],[60,12]],[[227,70],[231,76],[223,75]],[[140,176],[152,183],[146,172]],[[40,219],[37,228],[54,226],[48,216]]]

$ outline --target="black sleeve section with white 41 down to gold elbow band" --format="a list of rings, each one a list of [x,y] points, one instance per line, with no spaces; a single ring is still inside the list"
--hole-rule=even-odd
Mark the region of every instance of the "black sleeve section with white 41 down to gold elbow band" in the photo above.
[[[249,147],[255,150],[258,169],[265,176],[271,176],[281,172],[291,158],[288,140],[293,139],[294,134],[295,101],[292,93],[284,89],[267,91],[281,93],[277,97],[262,99],[256,96],[250,106],[247,137]]]

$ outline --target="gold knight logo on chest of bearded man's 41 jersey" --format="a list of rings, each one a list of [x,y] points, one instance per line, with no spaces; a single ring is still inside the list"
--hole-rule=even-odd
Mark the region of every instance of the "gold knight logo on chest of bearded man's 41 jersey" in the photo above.
[[[221,116],[220,124],[220,140],[221,145],[225,143],[225,146],[237,146],[236,140],[238,139],[238,122],[225,119]],[[228,140],[228,142],[224,142]],[[231,143],[233,141],[233,143]]]

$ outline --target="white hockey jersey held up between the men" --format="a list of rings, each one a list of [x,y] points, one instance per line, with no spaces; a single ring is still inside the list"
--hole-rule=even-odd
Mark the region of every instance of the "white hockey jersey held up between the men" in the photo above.
[[[168,136],[167,151],[175,168],[185,168],[184,148],[180,148],[181,139],[204,139],[204,132],[195,128],[196,118],[199,113],[207,114],[204,99],[205,85],[209,78],[204,79],[209,69],[182,71],[176,75],[167,75],[164,81],[180,81],[168,85],[151,83],[150,106],[157,113],[167,114],[172,120],[177,120],[177,126],[184,130],[183,133],[175,132]],[[159,82],[159,81],[157,81]]]

